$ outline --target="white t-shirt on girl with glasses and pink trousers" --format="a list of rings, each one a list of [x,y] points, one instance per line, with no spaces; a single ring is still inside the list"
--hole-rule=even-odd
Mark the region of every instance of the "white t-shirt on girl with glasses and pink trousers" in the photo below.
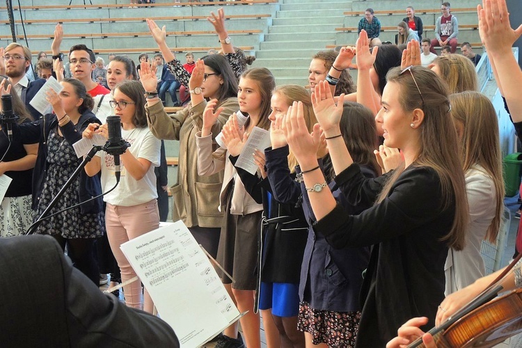
[[[111,205],[132,207],[147,203],[158,197],[156,189],[156,175],[154,167],[159,166],[161,141],[152,135],[148,127],[121,130],[122,138],[131,144],[130,150],[136,158],[148,159],[151,162],[148,172],[141,180],[135,180],[132,175],[127,173],[123,161],[120,161],[121,178],[118,187],[103,200]],[[114,176],[114,158],[100,151],[96,156],[101,157],[102,164],[102,188],[109,191],[116,184]]]

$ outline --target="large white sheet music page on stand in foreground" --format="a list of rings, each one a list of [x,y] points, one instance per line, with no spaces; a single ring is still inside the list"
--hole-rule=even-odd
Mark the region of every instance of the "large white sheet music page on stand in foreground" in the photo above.
[[[200,347],[239,318],[214,267],[182,221],[120,248],[181,347]]]

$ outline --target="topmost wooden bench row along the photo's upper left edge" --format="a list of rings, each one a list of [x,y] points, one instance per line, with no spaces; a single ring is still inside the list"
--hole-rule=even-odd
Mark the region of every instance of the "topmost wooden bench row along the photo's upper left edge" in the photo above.
[[[225,5],[241,5],[241,4],[254,4],[254,3],[278,3],[278,0],[240,0],[240,1],[194,1],[187,3],[175,3],[176,6],[225,6]],[[136,3],[135,5],[139,8],[145,7],[172,7],[173,3]],[[127,8],[129,3],[100,3],[100,4],[88,4],[88,5],[35,5],[35,6],[21,6],[22,10],[71,10],[75,8]],[[0,6],[0,10],[7,10],[7,6]],[[17,6],[13,6],[13,10],[18,10]]]

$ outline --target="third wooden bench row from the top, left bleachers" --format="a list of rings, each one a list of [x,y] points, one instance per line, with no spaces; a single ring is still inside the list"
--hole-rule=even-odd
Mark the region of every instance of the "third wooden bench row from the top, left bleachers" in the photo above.
[[[215,35],[215,31],[167,31],[167,36],[193,36],[193,35]],[[253,35],[262,33],[262,30],[253,29],[253,30],[229,30],[229,34],[247,34]],[[134,33],[79,33],[79,34],[63,34],[63,38],[128,38],[134,37],[138,38],[140,36],[150,37],[150,31],[139,31]],[[10,40],[13,37],[11,35],[0,35],[0,39]],[[19,40],[24,40],[24,35],[16,35],[16,38]],[[43,35],[26,35],[28,39],[53,39],[54,33],[51,34],[43,34]]]

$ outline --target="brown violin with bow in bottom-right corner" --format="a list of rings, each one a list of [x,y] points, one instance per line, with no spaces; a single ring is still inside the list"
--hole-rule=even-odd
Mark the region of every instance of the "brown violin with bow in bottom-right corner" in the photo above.
[[[503,290],[499,280],[520,260],[522,253],[509,264],[487,290],[468,303],[446,322],[430,331],[437,347],[493,347],[522,332],[522,289],[497,297]],[[425,347],[422,338],[408,348]]]

